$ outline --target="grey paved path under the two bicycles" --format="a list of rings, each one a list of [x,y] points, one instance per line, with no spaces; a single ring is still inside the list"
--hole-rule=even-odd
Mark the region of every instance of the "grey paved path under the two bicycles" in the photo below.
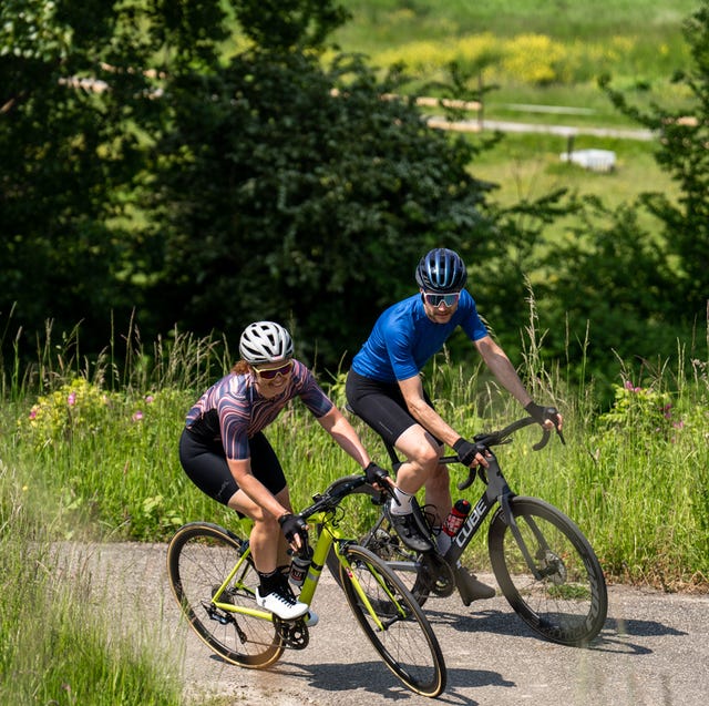
[[[169,645],[178,655],[191,706],[219,695],[220,706],[431,704],[400,685],[379,661],[323,574],[314,607],[320,623],[302,652],[269,671],[222,662],[181,621],[165,579],[165,546],[85,545],[71,552],[72,572],[91,576],[113,622]],[[483,576],[493,581],[492,576]],[[494,585],[494,582],[493,582]],[[152,590],[146,591],[150,586]],[[157,594],[155,593],[157,586]],[[609,617],[588,649],[535,637],[502,597],[465,608],[458,598],[427,604],[449,669],[451,706],[703,706],[709,694],[709,596],[612,586]]]

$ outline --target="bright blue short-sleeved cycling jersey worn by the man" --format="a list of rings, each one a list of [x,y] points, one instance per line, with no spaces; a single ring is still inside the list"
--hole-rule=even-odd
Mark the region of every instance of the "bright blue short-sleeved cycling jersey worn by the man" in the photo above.
[[[352,360],[352,370],[381,382],[408,380],[443,348],[459,326],[471,340],[487,336],[475,301],[466,289],[461,291],[458,309],[448,324],[433,323],[425,315],[421,295],[413,295],[390,306],[377,319],[372,332]]]

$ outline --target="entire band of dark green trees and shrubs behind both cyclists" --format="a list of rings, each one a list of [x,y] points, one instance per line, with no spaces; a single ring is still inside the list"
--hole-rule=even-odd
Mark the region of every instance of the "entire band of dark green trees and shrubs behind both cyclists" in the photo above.
[[[325,61],[347,19],[336,0],[4,0],[0,316],[13,310],[30,341],[47,319],[82,321],[88,351],[132,317],[144,338],[176,325],[232,341],[274,318],[333,369],[415,290],[422,253],[446,245],[506,348],[535,273],[549,356],[583,359],[588,327],[597,374],[613,351],[669,355],[668,334],[706,304],[708,8],[686,27],[689,112],[633,108],[605,83],[661,135],[658,162],[681,191],[609,212],[564,191],[496,205],[474,177],[492,142],[384,100],[405,82],[399,66],[381,78],[357,55]],[[443,92],[471,98],[453,69]],[[661,243],[640,207],[665,224]],[[549,248],[545,226],[571,213],[577,225]]]

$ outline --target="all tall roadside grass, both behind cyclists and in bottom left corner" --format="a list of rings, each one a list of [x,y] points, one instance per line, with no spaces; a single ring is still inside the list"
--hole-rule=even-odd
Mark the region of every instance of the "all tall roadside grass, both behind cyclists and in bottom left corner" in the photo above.
[[[125,339],[135,348],[110,366],[107,358],[78,366],[73,346],[62,350],[48,340],[58,364],[51,371],[40,352],[32,372],[16,366],[3,379],[0,703],[182,703],[176,677],[165,671],[173,662],[153,644],[156,636],[116,636],[110,602],[88,604],[86,576],[60,571],[49,551],[65,540],[166,541],[177,525],[198,519],[234,525],[233,513],[194,488],[177,460],[185,413],[228,367],[228,351],[220,340],[175,332],[169,345],[153,347],[157,360],[140,337]],[[627,366],[615,405],[599,415],[590,401],[593,380],[568,390],[563,370],[545,370],[538,352],[530,340],[521,374],[536,398],[562,409],[567,444],[553,440],[536,453],[531,447],[538,434],[520,432],[499,451],[512,488],[576,521],[609,581],[709,591],[707,361],[686,360],[679,347],[677,359],[659,368]],[[446,351],[425,375],[436,407],[463,434],[522,415],[480,367],[451,365]],[[345,374],[321,379],[342,407]],[[373,432],[353,423],[386,463]],[[296,509],[336,478],[359,471],[301,405],[287,408],[267,433]],[[452,483],[458,480],[453,469]],[[471,498],[481,491],[475,483]],[[359,531],[374,513],[362,500]],[[463,557],[479,571],[489,567],[483,535]]]

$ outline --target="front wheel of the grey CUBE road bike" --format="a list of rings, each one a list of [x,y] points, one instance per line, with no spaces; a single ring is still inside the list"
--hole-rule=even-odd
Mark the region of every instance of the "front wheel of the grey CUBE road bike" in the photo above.
[[[587,646],[608,612],[606,581],[593,548],[569,518],[543,500],[516,497],[510,507],[541,576],[528,569],[499,508],[487,546],[503,595],[535,633],[562,645]]]

